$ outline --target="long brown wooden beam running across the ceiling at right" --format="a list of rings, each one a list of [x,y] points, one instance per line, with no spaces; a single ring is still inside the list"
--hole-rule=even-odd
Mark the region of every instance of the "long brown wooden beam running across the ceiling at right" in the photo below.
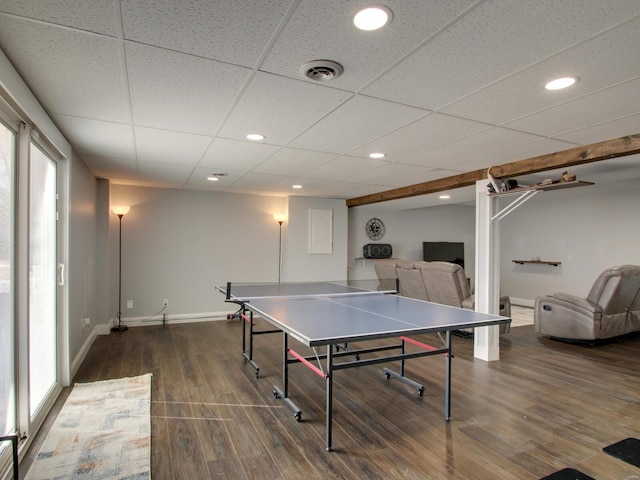
[[[640,153],[640,133],[570,148],[547,155],[540,155],[539,157],[532,157],[526,160],[496,165],[491,167],[491,174],[496,178],[505,179],[517,175],[530,175],[557,168],[600,162],[602,160],[635,155],[637,153]],[[475,170],[459,175],[439,178],[430,182],[417,183],[407,187],[394,188],[393,190],[350,198],[347,200],[347,207],[358,207],[372,203],[386,202],[388,200],[398,200],[400,198],[415,197],[454,188],[467,187],[474,185],[478,180],[484,180],[486,178],[487,169]]]

